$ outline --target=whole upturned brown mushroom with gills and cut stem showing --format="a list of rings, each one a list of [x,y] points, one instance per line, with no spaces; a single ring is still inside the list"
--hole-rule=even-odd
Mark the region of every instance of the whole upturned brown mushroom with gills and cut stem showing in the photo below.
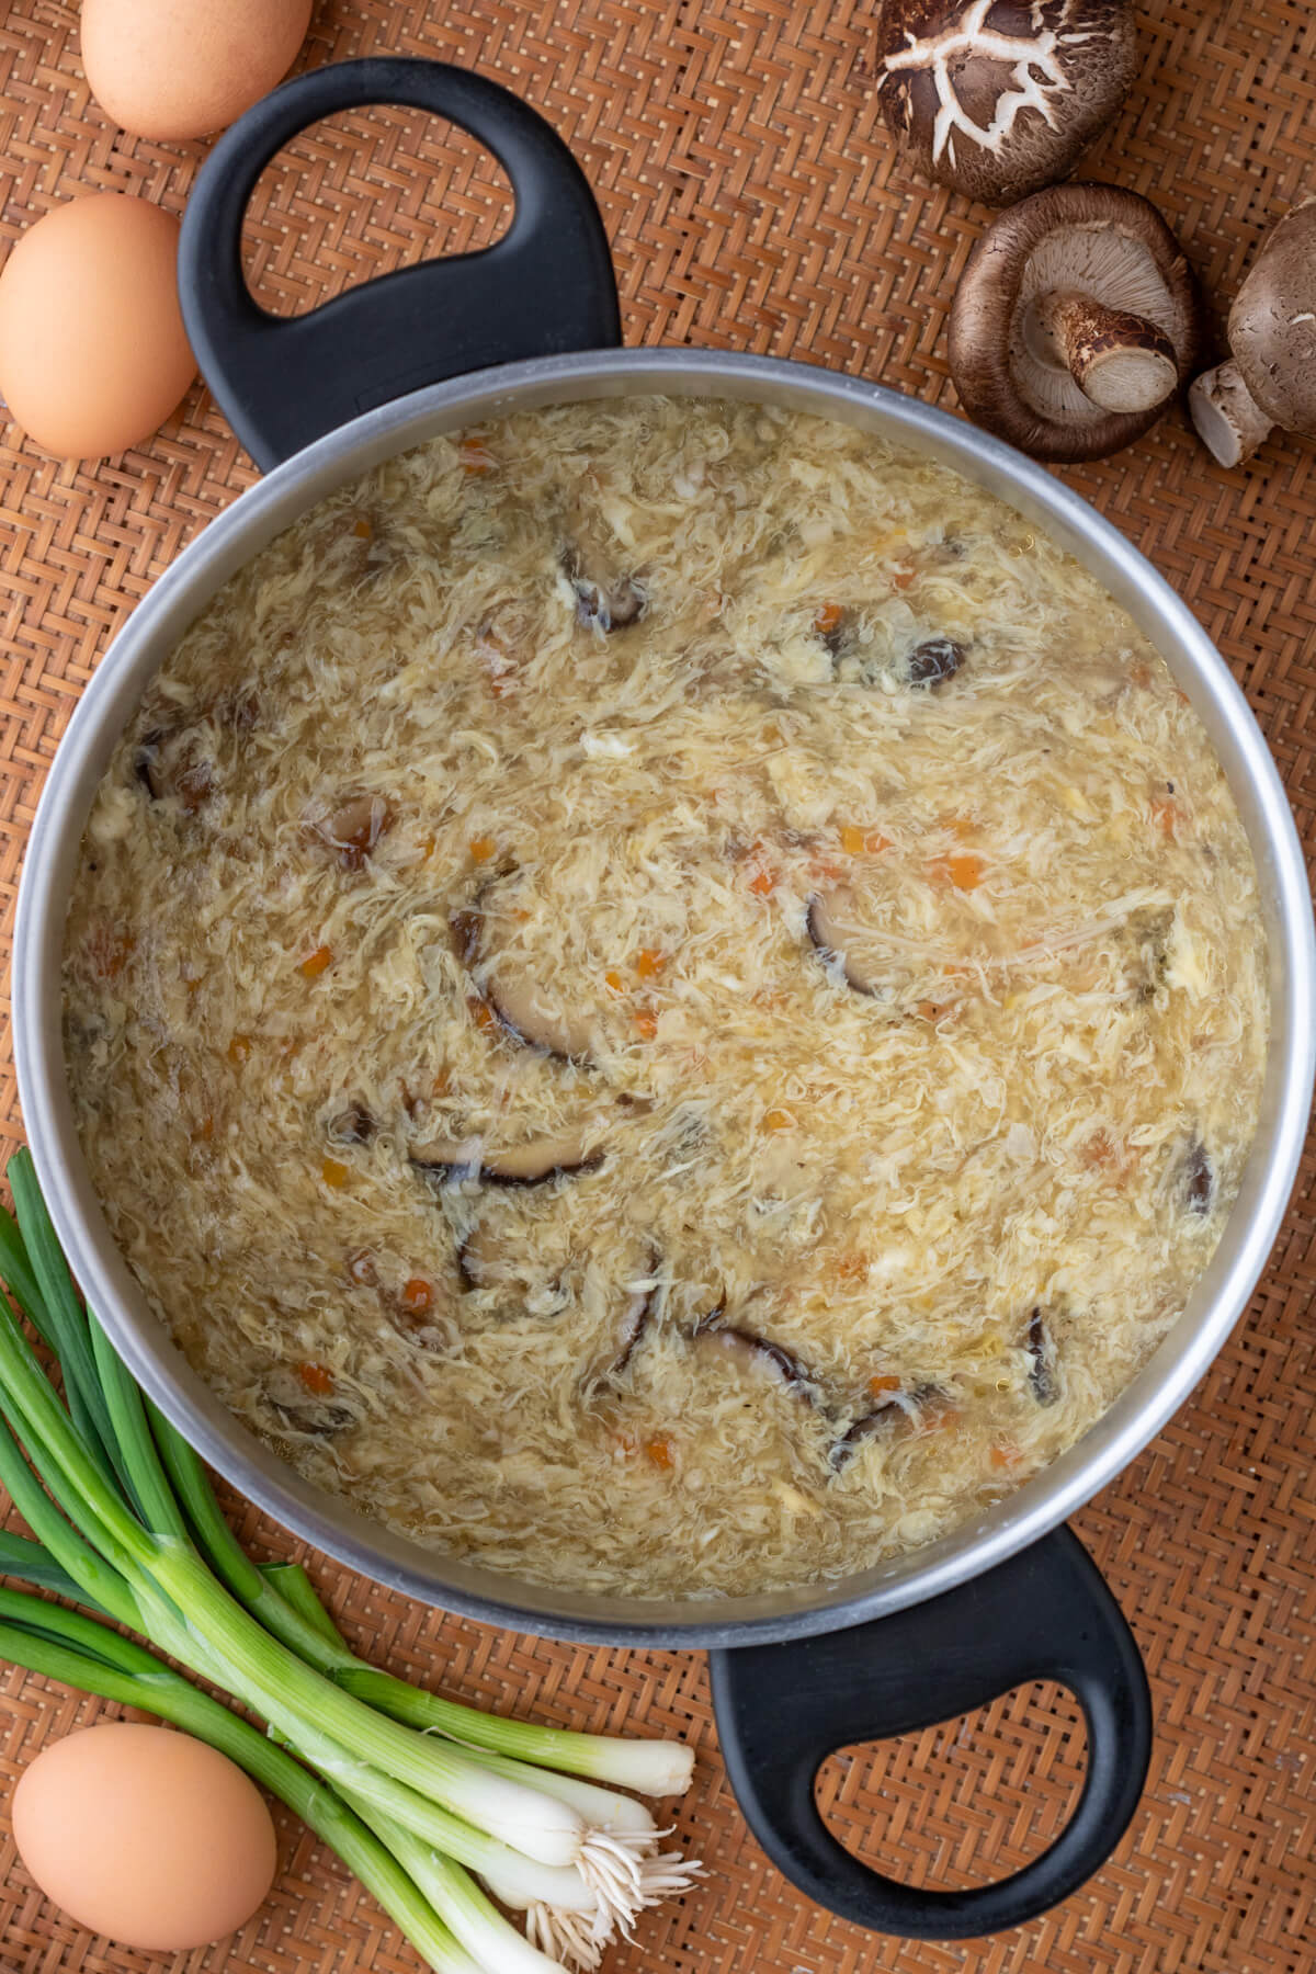
[[[1099,460],[1140,438],[1192,377],[1202,328],[1192,268],[1154,205],[1117,186],[1052,186],[969,255],[951,375],[969,417],[1022,452]]]

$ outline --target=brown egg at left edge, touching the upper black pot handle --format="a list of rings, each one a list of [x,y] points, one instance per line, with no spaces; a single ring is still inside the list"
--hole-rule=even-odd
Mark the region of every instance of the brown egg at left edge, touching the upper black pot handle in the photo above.
[[[172,213],[89,191],[24,233],[0,270],[0,393],[43,452],[136,446],[195,373]]]

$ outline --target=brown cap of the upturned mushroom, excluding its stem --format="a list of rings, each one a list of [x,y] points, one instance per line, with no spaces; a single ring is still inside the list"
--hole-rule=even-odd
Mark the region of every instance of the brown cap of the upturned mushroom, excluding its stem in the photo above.
[[[1198,282],[1154,205],[1117,186],[1052,186],[1002,213],[977,243],[951,308],[951,377],[975,424],[1036,460],[1101,460],[1160,418],[1103,411],[1042,361],[1030,310],[1048,292],[1093,296],[1170,338],[1178,383],[1202,355]]]

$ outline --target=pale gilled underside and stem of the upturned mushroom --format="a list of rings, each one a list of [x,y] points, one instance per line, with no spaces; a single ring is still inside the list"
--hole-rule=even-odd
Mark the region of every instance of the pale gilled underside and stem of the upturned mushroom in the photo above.
[[[1044,418],[1148,411],[1178,383],[1180,308],[1154,257],[1109,223],[1038,241],[1010,322],[1010,369]]]

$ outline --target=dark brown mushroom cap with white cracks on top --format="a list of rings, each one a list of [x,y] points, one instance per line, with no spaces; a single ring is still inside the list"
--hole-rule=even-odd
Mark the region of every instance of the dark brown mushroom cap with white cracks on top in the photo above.
[[[988,205],[1065,178],[1138,67],[1131,0],[884,0],[876,34],[888,130]]]

